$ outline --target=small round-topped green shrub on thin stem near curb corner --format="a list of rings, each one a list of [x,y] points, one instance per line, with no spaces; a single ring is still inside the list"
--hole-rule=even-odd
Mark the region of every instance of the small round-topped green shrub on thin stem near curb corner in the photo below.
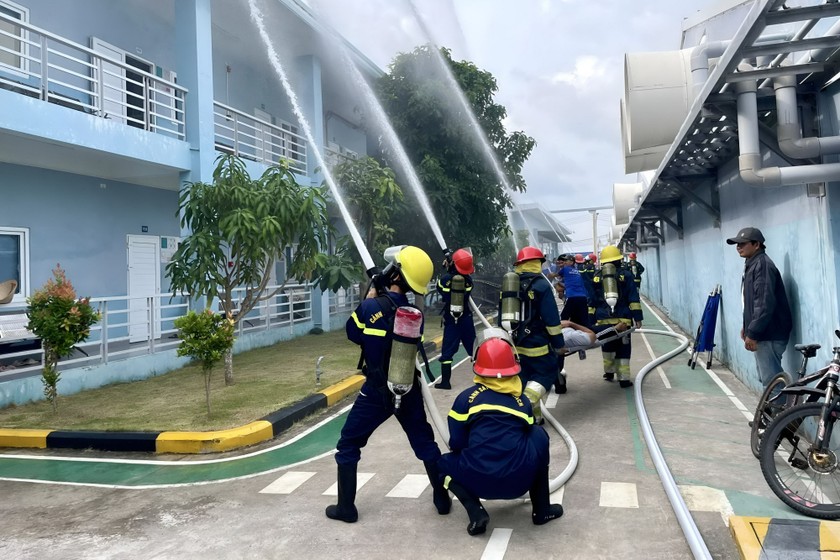
[[[233,348],[233,321],[205,309],[201,313],[190,311],[178,317],[175,319],[175,328],[181,339],[178,355],[201,362],[207,416],[210,416],[210,376],[216,363]]]

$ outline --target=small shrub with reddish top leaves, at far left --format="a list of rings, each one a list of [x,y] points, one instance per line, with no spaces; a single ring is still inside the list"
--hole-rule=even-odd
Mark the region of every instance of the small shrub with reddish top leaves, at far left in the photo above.
[[[41,339],[44,368],[41,381],[44,396],[56,408],[58,398],[58,360],[69,356],[73,347],[90,336],[90,327],[99,320],[99,312],[90,298],[76,299],[76,290],[61,265],[53,269],[53,277],[27,299],[26,328]]]

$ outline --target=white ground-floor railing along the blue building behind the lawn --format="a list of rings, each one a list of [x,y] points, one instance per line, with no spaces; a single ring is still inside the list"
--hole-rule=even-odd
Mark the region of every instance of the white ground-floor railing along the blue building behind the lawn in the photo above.
[[[269,286],[265,293],[278,287]],[[235,307],[239,306],[245,292],[244,288],[234,291]],[[171,293],[135,298],[91,298],[90,301],[101,313],[101,319],[91,327],[87,340],[76,346],[77,351],[59,362],[60,369],[107,364],[176,348],[180,340],[175,319],[186,315],[191,303],[189,296]],[[331,315],[351,311],[359,301],[358,287],[331,292],[329,301]],[[305,330],[295,333],[295,326],[308,324],[311,319],[312,284],[287,284],[239,321],[236,336],[281,327],[290,328],[293,335],[304,334]],[[36,338],[24,335],[10,340],[6,337],[0,339],[0,343],[25,346],[14,352],[0,353],[0,381],[10,375],[40,373],[43,350],[33,347]],[[9,348],[14,349],[14,346]]]

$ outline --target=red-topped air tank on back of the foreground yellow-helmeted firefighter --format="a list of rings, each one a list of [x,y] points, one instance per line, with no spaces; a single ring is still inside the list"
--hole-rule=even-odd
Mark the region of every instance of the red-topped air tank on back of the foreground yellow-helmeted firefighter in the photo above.
[[[391,361],[388,364],[388,390],[394,394],[394,409],[399,410],[403,395],[414,384],[417,344],[423,313],[416,307],[397,308],[394,317],[394,335],[391,341]]]

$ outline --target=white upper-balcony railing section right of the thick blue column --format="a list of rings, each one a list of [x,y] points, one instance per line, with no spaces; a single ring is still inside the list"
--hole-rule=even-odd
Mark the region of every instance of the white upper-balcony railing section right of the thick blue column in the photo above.
[[[216,149],[267,164],[283,160],[306,175],[306,140],[296,126],[272,124],[219,102],[213,103],[213,115]]]

